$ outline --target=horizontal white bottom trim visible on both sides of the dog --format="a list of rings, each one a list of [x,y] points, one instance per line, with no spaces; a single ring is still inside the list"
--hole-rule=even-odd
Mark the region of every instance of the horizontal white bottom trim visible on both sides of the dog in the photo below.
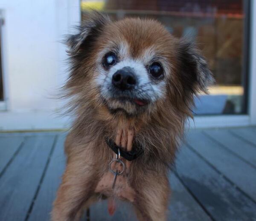
[[[0,131],[68,129],[69,117],[61,117],[52,112],[1,112]],[[249,126],[248,115],[198,116],[189,119],[189,129]]]

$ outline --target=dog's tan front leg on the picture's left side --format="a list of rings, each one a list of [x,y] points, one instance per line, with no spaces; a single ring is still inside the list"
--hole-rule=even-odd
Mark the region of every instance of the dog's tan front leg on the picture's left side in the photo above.
[[[93,170],[69,161],[52,210],[52,221],[79,220],[79,210],[93,195],[97,179]]]

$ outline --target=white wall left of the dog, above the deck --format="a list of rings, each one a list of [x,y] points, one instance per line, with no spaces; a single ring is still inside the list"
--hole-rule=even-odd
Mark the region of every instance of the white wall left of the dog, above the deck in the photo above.
[[[7,107],[0,112],[0,129],[63,127],[66,121],[53,115],[59,102],[52,98],[66,76],[60,41],[80,19],[79,0],[1,0],[0,15]]]

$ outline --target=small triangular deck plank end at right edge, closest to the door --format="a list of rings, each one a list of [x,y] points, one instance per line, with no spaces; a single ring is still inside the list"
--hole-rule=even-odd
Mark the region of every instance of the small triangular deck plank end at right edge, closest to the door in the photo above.
[[[234,128],[230,129],[230,132],[237,135],[240,138],[243,138],[245,141],[250,142],[256,147],[256,128],[247,127],[247,128]]]

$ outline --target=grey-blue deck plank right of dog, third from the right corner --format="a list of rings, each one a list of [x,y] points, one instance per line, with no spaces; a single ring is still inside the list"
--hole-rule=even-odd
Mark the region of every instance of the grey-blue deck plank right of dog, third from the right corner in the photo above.
[[[202,132],[189,133],[189,146],[256,201],[256,169],[212,141]]]

